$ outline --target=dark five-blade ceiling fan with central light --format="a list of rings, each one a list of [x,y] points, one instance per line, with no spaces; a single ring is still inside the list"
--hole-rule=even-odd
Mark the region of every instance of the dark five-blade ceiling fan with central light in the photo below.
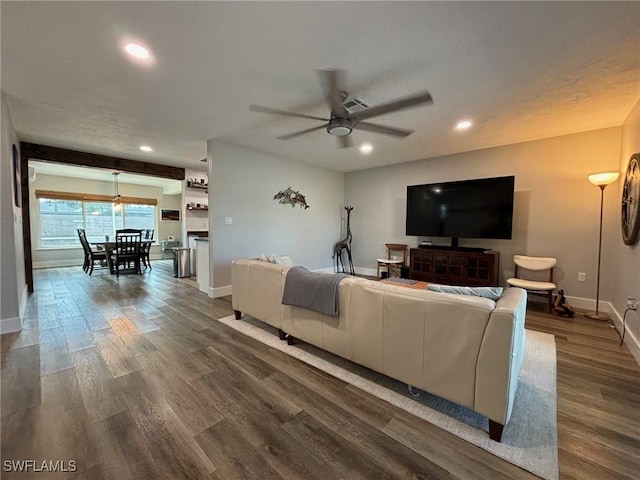
[[[252,112],[270,113],[273,115],[282,115],[286,117],[308,118],[311,120],[320,120],[322,122],[326,122],[323,125],[300,130],[298,132],[283,135],[278,138],[280,140],[289,140],[299,135],[304,135],[306,133],[326,128],[329,134],[336,136],[338,140],[338,147],[345,148],[353,145],[353,142],[349,138],[349,134],[354,129],[365,130],[373,133],[381,133],[384,135],[391,135],[400,138],[404,138],[407,135],[410,135],[411,133],[413,133],[413,130],[388,127],[385,125],[364,122],[363,120],[377,117],[378,115],[383,115],[385,113],[396,112],[398,110],[415,107],[423,103],[433,103],[431,95],[425,90],[423,92],[409,95],[392,102],[365,108],[362,110],[348,109],[345,106],[345,103],[359,103],[360,105],[362,105],[363,102],[361,100],[357,101],[359,99],[355,99],[356,102],[345,102],[346,100],[348,100],[348,94],[342,88],[342,84],[344,83],[344,71],[318,70],[318,74],[320,75],[320,80],[322,81],[322,85],[325,91],[325,100],[329,105],[329,118],[316,117],[314,115],[306,115],[304,113],[288,112],[286,110],[277,110],[270,107],[261,107],[260,105],[249,105],[249,110]]]

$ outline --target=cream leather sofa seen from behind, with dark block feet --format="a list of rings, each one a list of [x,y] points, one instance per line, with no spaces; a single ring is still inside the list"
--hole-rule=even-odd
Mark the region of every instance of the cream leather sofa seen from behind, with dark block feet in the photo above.
[[[522,364],[526,292],[498,301],[364,278],[340,282],[338,317],[281,304],[288,266],[232,262],[236,318],[246,313],[293,336],[489,419],[500,441]]]

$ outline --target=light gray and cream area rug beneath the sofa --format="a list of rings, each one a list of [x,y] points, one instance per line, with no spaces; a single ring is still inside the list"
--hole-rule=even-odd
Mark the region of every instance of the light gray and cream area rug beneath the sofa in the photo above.
[[[489,439],[487,419],[421,390],[410,395],[404,383],[304,342],[287,345],[275,328],[244,315],[220,322],[270,347],[430,422],[546,480],[558,479],[556,422],[556,347],[553,335],[527,330],[525,356],[511,420],[502,441]]]

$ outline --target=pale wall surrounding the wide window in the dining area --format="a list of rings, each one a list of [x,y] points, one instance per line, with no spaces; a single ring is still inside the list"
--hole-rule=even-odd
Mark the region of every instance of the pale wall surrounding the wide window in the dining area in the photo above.
[[[29,185],[34,268],[82,265],[83,254],[80,247],[63,249],[42,249],[39,247],[38,238],[40,230],[38,225],[37,200],[35,198],[36,190],[113,195],[113,183],[38,174],[36,175],[35,181]],[[166,239],[169,235],[173,235],[177,239],[182,238],[182,222],[160,221],[161,208],[170,208],[173,210],[180,210],[182,208],[182,195],[164,195],[161,187],[131,185],[122,182],[119,183],[118,190],[120,195],[123,196],[155,198],[158,201],[157,227],[154,233],[158,244],[154,244],[151,247],[151,258],[158,258],[161,255],[160,240]]]

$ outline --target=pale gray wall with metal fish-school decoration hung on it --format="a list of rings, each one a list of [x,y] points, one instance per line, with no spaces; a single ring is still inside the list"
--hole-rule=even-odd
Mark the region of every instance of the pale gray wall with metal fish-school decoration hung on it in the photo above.
[[[208,150],[214,288],[231,285],[231,260],[261,253],[290,255],[310,269],[331,268],[344,212],[341,172],[212,140]],[[306,196],[307,210],[273,199],[287,187]]]

